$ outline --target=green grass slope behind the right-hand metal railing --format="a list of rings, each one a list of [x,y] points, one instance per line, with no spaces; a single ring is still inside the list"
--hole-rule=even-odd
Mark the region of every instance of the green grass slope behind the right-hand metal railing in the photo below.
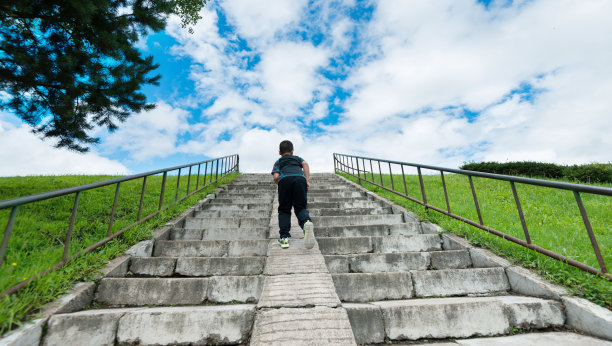
[[[394,168],[394,171],[397,172],[399,169]],[[346,174],[341,175],[357,182],[356,178]],[[380,175],[374,174],[374,178],[376,183],[380,184]],[[368,179],[372,179],[370,174]],[[473,179],[484,224],[525,240],[510,183],[484,178]],[[446,209],[440,175],[423,175],[423,181],[428,203]],[[451,211],[478,222],[468,178],[445,174],[445,181]],[[389,175],[383,174],[383,182],[384,186],[391,188]],[[607,279],[541,255],[436,211],[425,211],[423,206],[372,184],[365,182],[362,184],[369,190],[415,212],[424,220],[439,224],[476,245],[487,247],[514,262],[535,269],[547,279],[567,287],[573,294],[585,297],[608,309],[612,308],[612,282]],[[397,191],[404,193],[401,175],[393,176],[393,184]],[[612,184],[598,184],[598,186],[612,187]],[[525,184],[516,184],[516,188],[532,243],[600,269],[571,191]],[[417,175],[406,175],[406,190],[408,196],[422,200]],[[612,198],[590,194],[581,194],[581,197],[605,264],[611,268]]]

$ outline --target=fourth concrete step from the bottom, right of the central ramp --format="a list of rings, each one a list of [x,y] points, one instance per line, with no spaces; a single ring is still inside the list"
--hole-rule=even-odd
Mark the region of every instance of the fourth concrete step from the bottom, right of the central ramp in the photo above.
[[[319,249],[324,255],[436,251],[442,249],[442,240],[437,234],[331,238],[317,236],[317,243],[319,243]],[[467,251],[465,252],[467,253]]]

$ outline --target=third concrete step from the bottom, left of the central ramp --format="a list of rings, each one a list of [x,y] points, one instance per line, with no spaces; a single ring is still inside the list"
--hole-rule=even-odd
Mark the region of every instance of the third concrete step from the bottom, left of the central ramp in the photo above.
[[[130,272],[134,275],[167,277],[213,275],[260,275],[266,258],[244,257],[134,257]]]

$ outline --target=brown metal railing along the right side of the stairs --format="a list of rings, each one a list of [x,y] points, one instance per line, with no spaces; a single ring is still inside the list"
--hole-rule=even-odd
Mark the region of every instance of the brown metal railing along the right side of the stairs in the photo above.
[[[470,224],[474,227],[480,228],[482,230],[485,230],[487,232],[490,232],[492,234],[495,234],[501,238],[504,238],[506,240],[512,241],[516,244],[522,245],[526,248],[532,249],[534,251],[537,251],[541,254],[544,254],[546,256],[552,257],[554,259],[557,259],[559,261],[563,261],[567,264],[570,264],[574,267],[580,268],[584,271],[587,271],[589,273],[595,274],[595,275],[600,275],[602,277],[607,278],[608,280],[612,280],[612,275],[608,272],[608,269],[606,268],[606,264],[604,262],[603,256],[601,254],[601,250],[599,249],[599,244],[597,243],[597,239],[595,238],[595,234],[593,233],[593,228],[591,227],[591,223],[589,221],[589,218],[587,216],[586,210],[584,208],[584,205],[582,203],[582,198],[580,197],[580,193],[589,193],[589,194],[595,194],[595,195],[603,195],[603,196],[612,196],[612,189],[610,188],[605,188],[605,187],[598,187],[598,186],[590,186],[590,185],[580,185],[580,184],[571,184],[571,183],[563,183],[563,182],[556,182],[556,181],[549,181],[549,180],[541,180],[541,179],[531,179],[531,178],[523,178],[523,177],[515,177],[515,176],[509,176],[509,175],[501,175],[501,174],[492,174],[492,173],[484,173],[484,172],[476,172],[476,171],[467,171],[467,170],[461,170],[461,169],[453,169],[453,168],[444,168],[444,167],[436,167],[436,166],[429,166],[429,165],[421,165],[421,164],[416,164],[416,163],[408,163],[408,162],[400,162],[400,161],[391,161],[391,160],[384,160],[384,159],[377,159],[377,158],[371,158],[371,157],[361,157],[361,156],[353,156],[353,155],[346,155],[346,154],[338,154],[338,153],[334,153],[334,169],[336,171],[340,171],[342,173],[346,173],[352,177],[357,178],[357,180],[359,181],[359,183],[361,184],[362,181],[368,182],[372,185],[378,186],[382,189],[385,189],[389,192],[392,192],[396,195],[399,195],[401,197],[404,197],[410,201],[413,201],[415,203],[421,204],[423,205],[426,209],[432,209],[435,210],[439,213],[448,215],[452,218],[455,218],[457,220],[463,221],[467,224]],[[361,161],[361,162],[360,162]],[[369,163],[369,165],[366,165],[366,161]],[[373,164],[373,162],[375,164]],[[383,182],[383,169],[381,169],[381,163],[384,165],[388,166],[389,169],[389,175],[390,175],[390,180],[391,180],[391,188],[387,187],[384,185]],[[401,168],[401,176],[402,176],[402,180],[403,180],[403,185],[404,185],[404,193],[396,190],[395,188],[395,184],[393,181],[393,172],[391,170],[391,164],[394,165],[399,165]],[[368,170],[368,166],[369,166],[369,170]],[[374,169],[377,166],[378,168],[378,174],[377,176],[380,177],[380,184],[377,183],[375,181],[375,176],[374,176]],[[419,184],[420,184],[420,189],[421,189],[421,197],[422,197],[422,201],[418,200],[416,198],[413,198],[411,196],[408,196],[408,190],[406,188],[406,174],[404,172],[404,167],[414,167],[417,169],[417,173],[418,173],[418,177],[419,177]],[[387,167],[385,167],[386,169]],[[444,198],[446,201],[446,209],[442,209],[442,208],[438,208],[434,205],[431,205],[427,202],[427,193],[425,191],[425,185],[423,184],[423,175],[421,173],[421,169],[429,169],[429,170],[434,170],[434,171],[438,171],[440,172],[440,177],[441,177],[441,181],[442,181],[442,187],[444,190]],[[449,203],[449,198],[448,198],[448,192],[446,189],[446,181],[444,180],[444,173],[455,173],[455,174],[461,174],[461,175],[465,175],[468,177],[469,183],[470,183],[470,188],[472,191],[472,197],[474,199],[474,206],[476,208],[476,214],[478,215],[478,222],[475,222],[473,220],[470,220],[468,218],[465,218],[463,216],[454,214],[453,212],[451,212],[451,208],[450,208],[450,203]],[[357,174],[357,175],[355,175]],[[399,173],[396,173],[396,175]],[[369,176],[369,177],[368,177]],[[478,198],[476,195],[476,189],[474,188],[474,182],[472,180],[472,177],[481,177],[481,178],[488,178],[488,179],[494,179],[494,180],[502,180],[502,181],[507,181],[510,183],[510,188],[512,190],[512,194],[514,196],[514,202],[516,205],[516,209],[519,215],[519,218],[521,220],[521,226],[523,228],[523,233],[525,234],[525,240],[523,239],[519,239],[516,237],[513,237],[509,234],[505,234],[499,230],[493,229],[491,227],[485,226],[484,222],[483,222],[483,218],[482,218],[482,213],[480,211],[480,206],[478,204]],[[370,178],[370,179],[368,179]],[[521,183],[521,184],[528,184],[528,185],[535,185],[535,186],[544,186],[544,187],[549,187],[549,188],[555,188],[555,189],[562,189],[562,190],[569,190],[572,191],[574,193],[574,198],[576,200],[576,204],[578,206],[578,209],[580,210],[580,215],[582,217],[582,221],[584,223],[584,226],[586,228],[586,231],[588,233],[589,236],[589,240],[591,241],[591,245],[593,247],[593,251],[595,252],[595,257],[597,258],[597,262],[601,268],[601,270],[597,270],[596,268],[593,268],[589,265],[586,265],[582,262],[578,262],[576,260],[573,260],[571,258],[565,257],[563,255],[557,254],[551,250],[545,249],[541,246],[535,245],[531,242],[531,237],[529,235],[529,229],[527,228],[527,223],[525,222],[525,216],[523,214],[523,209],[521,207],[521,203],[518,197],[518,193],[516,191],[516,186],[515,183]]]

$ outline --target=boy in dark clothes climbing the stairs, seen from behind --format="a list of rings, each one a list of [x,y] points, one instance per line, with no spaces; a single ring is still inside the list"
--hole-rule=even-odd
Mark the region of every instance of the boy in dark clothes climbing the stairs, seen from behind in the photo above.
[[[300,228],[304,230],[304,240],[307,249],[314,246],[314,225],[310,221],[306,209],[306,193],[310,188],[310,168],[308,163],[299,156],[293,155],[293,143],[282,141],[278,153],[281,158],[274,163],[272,175],[278,185],[278,226],[281,248],[289,248],[289,229],[291,228],[291,207],[298,219]]]

